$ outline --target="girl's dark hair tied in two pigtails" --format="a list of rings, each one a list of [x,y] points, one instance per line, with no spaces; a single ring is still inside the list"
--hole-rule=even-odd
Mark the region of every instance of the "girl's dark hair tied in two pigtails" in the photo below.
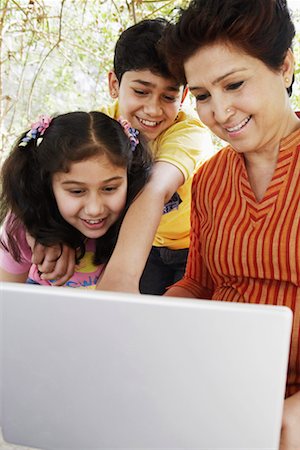
[[[95,264],[106,262],[111,255],[124,214],[132,200],[146,184],[152,157],[147,146],[140,143],[132,151],[122,125],[101,112],[71,112],[52,119],[39,146],[31,139],[19,146],[24,133],[5,160],[2,171],[0,222],[10,214],[6,231],[7,245],[2,245],[20,262],[20,250],[14,236],[20,226],[41,244],[67,244],[80,248],[84,254],[84,239],[76,228],[61,216],[52,190],[52,176],[68,172],[73,162],[105,154],[119,167],[127,167],[128,191],[122,217],[108,232],[97,239]]]

